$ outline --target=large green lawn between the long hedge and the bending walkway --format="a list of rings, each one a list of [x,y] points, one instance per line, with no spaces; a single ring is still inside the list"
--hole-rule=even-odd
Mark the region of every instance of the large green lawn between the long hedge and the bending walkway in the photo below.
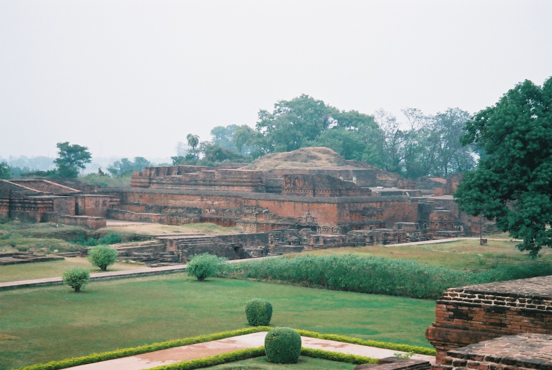
[[[273,326],[431,347],[432,300],[302,288],[183,273],[0,292],[0,369],[247,326],[268,299]]]

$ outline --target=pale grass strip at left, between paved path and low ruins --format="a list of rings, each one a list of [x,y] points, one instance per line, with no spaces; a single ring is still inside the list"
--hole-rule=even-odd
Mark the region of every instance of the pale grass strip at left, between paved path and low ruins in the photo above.
[[[103,272],[99,267],[92,266],[86,258],[66,257],[65,260],[22,263],[21,265],[0,266],[0,283],[8,281],[19,281],[28,279],[40,279],[59,277],[63,271],[82,267],[90,270],[91,273]],[[121,263],[108,266],[107,271],[122,271],[135,268],[147,268],[141,263]]]

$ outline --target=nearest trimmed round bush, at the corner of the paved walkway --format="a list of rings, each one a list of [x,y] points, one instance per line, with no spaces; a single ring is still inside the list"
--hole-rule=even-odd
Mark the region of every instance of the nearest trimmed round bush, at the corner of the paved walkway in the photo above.
[[[297,363],[301,353],[301,336],[290,327],[276,327],[264,337],[267,361],[273,363]]]

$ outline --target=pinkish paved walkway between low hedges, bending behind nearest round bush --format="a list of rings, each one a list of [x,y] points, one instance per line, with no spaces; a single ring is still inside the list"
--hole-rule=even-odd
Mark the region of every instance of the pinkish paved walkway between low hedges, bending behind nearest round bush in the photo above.
[[[89,363],[70,367],[74,370],[142,370],[152,367],[169,365],[180,361],[190,361],[196,358],[206,356],[220,355],[221,353],[243,350],[245,348],[255,348],[264,346],[264,336],[267,332],[257,332],[252,334],[240,335],[226,339],[219,339],[210,342],[196,343],[188,346],[168,348],[167,350],[143,353],[142,355],[115,358],[103,362]],[[393,356],[394,353],[405,353],[394,350],[385,350],[383,348],[361,346],[351,343],[336,342],[325,339],[316,339],[311,337],[301,337],[302,346],[307,348],[316,348],[332,352],[348,353],[350,355],[367,356],[373,358],[383,358]],[[414,355],[416,360],[429,361],[435,363],[434,356]]]

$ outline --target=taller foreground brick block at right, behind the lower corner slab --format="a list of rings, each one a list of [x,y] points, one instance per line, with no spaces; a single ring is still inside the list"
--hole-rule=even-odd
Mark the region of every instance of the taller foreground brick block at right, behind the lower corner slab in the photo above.
[[[450,288],[426,338],[439,362],[449,350],[523,332],[552,334],[552,276]]]

